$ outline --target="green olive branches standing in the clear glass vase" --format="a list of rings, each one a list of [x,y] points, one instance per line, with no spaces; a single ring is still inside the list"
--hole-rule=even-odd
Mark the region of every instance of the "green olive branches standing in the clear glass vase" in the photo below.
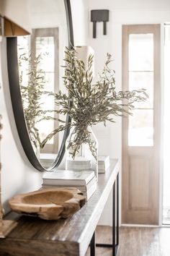
[[[68,124],[62,121],[57,129],[48,135],[41,143],[41,148],[56,133],[67,128],[75,127],[73,140],[69,142],[68,148],[72,150],[72,158],[75,158],[83,143],[89,144],[94,158],[97,159],[97,149],[91,142],[88,127],[103,122],[106,126],[107,121],[115,122],[113,116],[132,114],[133,103],[146,101],[148,95],[145,89],[119,91],[115,90],[115,71],[109,68],[112,61],[111,55],[107,54],[102,73],[99,80],[92,84],[92,66],[94,58],[89,55],[87,69],[84,61],[76,56],[76,48],[66,48],[64,85],[68,90],[68,95],[55,93],[55,104],[58,106],[57,113],[71,117]],[[123,101],[123,102],[122,102]]]

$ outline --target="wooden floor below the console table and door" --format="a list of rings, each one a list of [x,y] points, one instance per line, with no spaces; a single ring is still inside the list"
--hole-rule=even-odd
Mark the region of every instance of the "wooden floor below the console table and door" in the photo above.
[[[97,242],[111,242],[112,229],[97,227]],[[86,256],[89,256],[89,250]],[[111,249],[97,248],[96,256],[111,256]],[[120,228],[118,256],[170,256],[170,228]]]

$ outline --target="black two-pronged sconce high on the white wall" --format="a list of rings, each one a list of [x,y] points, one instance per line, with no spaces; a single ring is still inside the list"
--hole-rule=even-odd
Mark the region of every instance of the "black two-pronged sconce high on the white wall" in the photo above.
[[[107,35],[107,22],[109,10],[91,10],[91,22],[93,22],[93,38],[97,37],[97,22],[103,22],[103,35]]]

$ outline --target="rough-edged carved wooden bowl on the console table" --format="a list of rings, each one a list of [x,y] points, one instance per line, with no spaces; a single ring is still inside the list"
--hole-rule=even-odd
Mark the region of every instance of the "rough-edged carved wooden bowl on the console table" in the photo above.
[[[58,220],[73,216],[85,202],[86,197],[79,189],[57,188],[16,195],[9,200],[9,205],[17,213]]]

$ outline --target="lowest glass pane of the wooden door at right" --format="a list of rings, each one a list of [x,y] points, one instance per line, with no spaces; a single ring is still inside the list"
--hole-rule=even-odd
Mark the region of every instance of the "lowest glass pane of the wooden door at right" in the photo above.
[[[129,117],[129,146],[153,146],[153,109],[135,109]]]

